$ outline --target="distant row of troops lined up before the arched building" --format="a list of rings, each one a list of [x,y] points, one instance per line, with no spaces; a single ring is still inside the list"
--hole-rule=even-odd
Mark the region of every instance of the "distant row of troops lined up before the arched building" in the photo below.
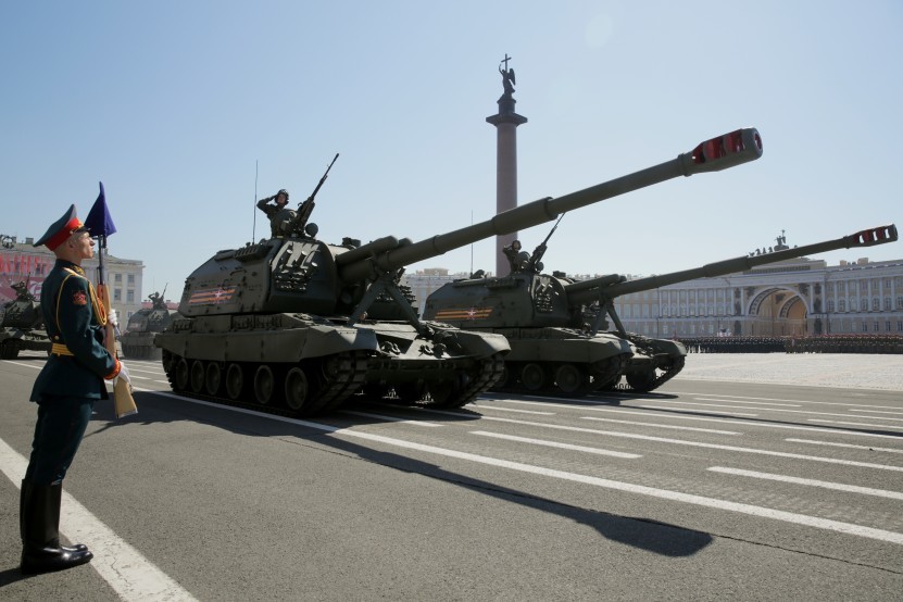
[[[903,335],[681,338],[690,353],[901,353]]]

